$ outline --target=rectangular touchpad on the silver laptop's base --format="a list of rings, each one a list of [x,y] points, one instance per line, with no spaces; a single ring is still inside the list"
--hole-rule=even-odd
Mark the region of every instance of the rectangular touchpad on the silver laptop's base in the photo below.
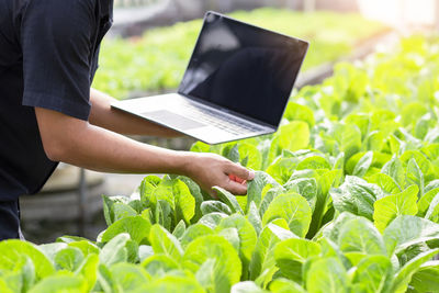
[[[205,124],[183,117],[179,114],[176,114],[167,110],[145,112],[142,113],[142,115],[144,115],[147,119],[157,121],[160,124],[165,124],[178,129],[192,129],[206,126]]]

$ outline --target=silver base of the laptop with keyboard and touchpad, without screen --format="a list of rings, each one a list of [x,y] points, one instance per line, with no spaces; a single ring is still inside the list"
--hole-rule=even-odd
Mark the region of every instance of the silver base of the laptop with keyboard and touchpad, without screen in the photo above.
[[[113,108],[215,145],[275,132],[178,93],[124,100]]]

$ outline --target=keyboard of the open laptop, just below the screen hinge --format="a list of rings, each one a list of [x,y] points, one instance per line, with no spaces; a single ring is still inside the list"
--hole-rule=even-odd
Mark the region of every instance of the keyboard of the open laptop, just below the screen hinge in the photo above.
[[[222,112],[196,106],[190,103],[183,103],[179,105],[179,114],[206,125],[213,125],[234,135],[261,131],[260,127],[257,127],[250,123],[246,123],[245,121],[226,115]]]

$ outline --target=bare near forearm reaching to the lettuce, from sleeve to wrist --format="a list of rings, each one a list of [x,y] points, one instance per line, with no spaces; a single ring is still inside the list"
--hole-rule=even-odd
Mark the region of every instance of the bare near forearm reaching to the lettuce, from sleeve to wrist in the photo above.
[[[142,144],[54,111],[37,109],[36,112],[37,116],[45,112],[38,125],[50,129],[45,134],[48,139],[44,147],[53,160],[104,172],[185,173],[189,153]]]

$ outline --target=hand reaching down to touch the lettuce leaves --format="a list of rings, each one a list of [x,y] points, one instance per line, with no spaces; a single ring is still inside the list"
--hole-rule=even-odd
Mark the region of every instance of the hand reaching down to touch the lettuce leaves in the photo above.
[[[216,198],[213,187],[218,185],[233,194],[247,193],[247,180],[255,178],[255,172],[234,164],[218,155],[189,153],[187,172],[200,187]],[[244,180],[244,181],[241,181]],[[241,181],[241,182],[239,182]]]

